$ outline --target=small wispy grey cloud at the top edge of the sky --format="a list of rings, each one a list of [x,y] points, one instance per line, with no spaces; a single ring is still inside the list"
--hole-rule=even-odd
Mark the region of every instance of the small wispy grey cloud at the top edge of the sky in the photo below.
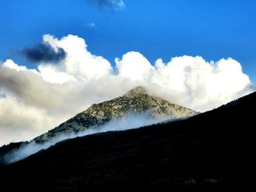
[[[124,8],[123,0],[87,0],[91,5],[97,6],[99,9],[110,8],[114,10]]]

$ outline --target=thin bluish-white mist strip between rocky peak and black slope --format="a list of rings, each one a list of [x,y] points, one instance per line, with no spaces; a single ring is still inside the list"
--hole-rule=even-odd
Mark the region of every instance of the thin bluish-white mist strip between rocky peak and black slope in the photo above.
[[[78,134],[61,134],[58,137],[50,139],[48,142],[37,143],[31,140],[29,143],[24,143],[18,149],[11,150],[3,157],[5,164],[12,164],[20,161],[29,155],[39,152],[40,150],[45,150],[50,146],[56,145],[56,143],[61,142],[65,139],[73,139],[75,137],[83,137],[90,134],[98,134],[107,131],[124,131],[132,128],[140,128],[143,126],[150,126],[156,123],[160,123],[166,119],[152,118],[152,116],[146,112],[143,114],[127,114],[124,118],[110,120],[110,122],[105,123],[103,126],[97,128],[88,128],[85,131],[80,131]]]

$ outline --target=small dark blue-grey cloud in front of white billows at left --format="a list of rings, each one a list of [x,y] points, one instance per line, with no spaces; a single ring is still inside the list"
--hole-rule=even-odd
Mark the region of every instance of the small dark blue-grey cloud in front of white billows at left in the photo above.
[[[31,62],[31,63],[39,63],[39,62],[50,62],[50,63],[58,63],[59,61],[66,58],[67,53],[61,47],[58,47],[55,50],[48,43],[39,43],[34,45],[33,47],[26,47],[21,51],[22,55]]]

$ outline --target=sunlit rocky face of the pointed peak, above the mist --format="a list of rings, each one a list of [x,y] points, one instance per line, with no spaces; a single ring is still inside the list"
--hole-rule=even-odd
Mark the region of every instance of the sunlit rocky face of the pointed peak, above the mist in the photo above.
[[[186,118],[197,114],[193,110],[172,104],[165,99],[151,96],[145,88],[133,88],[124,96],[119,96],[110,101],[93,104],[87,110],[75,115],[60,126],[53,128],[46,134],[35,138],[36,142],[44,142],[59,134],[78,133],[87,128],[97,128],[108,123],[110,120],[124,118],[127,114],[140,115],[147,113],[151,118],[168,120]]]

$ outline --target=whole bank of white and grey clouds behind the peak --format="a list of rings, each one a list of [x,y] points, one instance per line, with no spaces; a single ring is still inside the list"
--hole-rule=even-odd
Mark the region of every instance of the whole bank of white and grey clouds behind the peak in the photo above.
[[[249,77],[233,58],[208,62],[184,55],[151,64],[131,51],[111,65],[90,53],[85,40],[74,35],[56,39],[47,34],[42,44],[55,53],[63,50],[65,57],[39,59],[37,69],[10,59],[0,64],[0,145],[33,139],[91,104],[121,96],[138,85],[200,112],[252,92]]]

